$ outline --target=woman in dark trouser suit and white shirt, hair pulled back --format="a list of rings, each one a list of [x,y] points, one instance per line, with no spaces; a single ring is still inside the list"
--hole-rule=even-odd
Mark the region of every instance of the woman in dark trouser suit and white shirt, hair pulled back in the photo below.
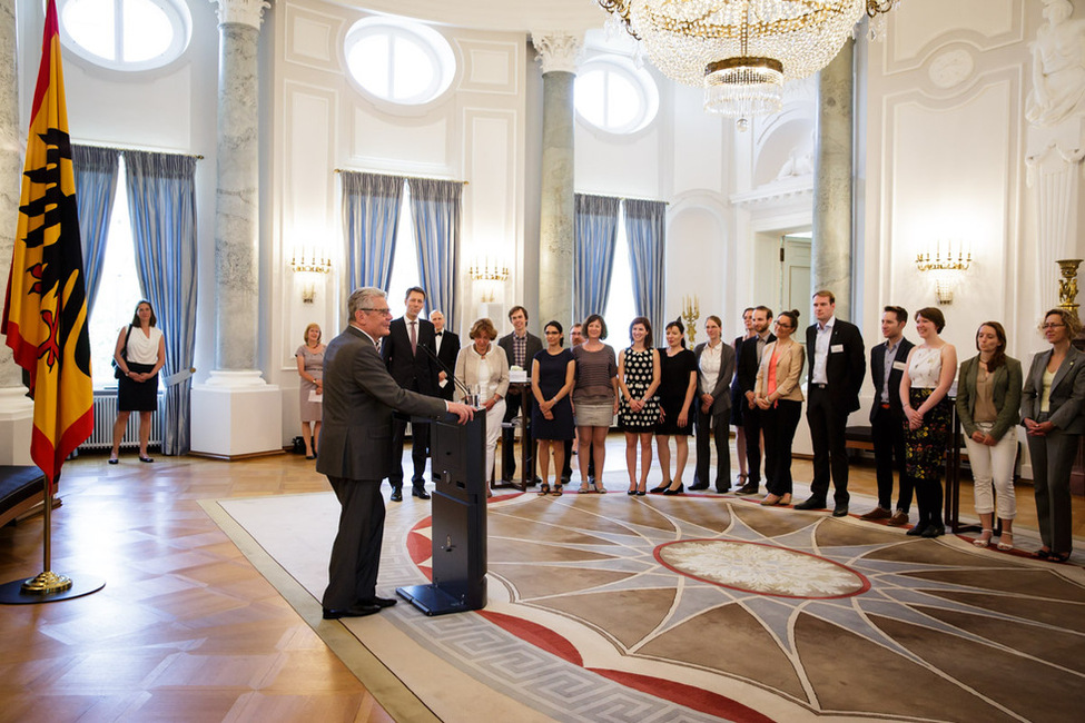
[[[722,324],[719,317],[710,316],[706,329]],[[711,339],[710,339],[711,340]],[[731,379],[734,377],[734,349],[720,340],[714,348],[708,341],[693,348],[697,357],[697,466],[690,489],[708,489],[709,459],[711,447],[709,437],[716,442],[716,492],[731,489],[731,447],[729,425],[731,422]],[[714,378],[701,372],[701,360],[706,354],[719,355],[719,370]]]

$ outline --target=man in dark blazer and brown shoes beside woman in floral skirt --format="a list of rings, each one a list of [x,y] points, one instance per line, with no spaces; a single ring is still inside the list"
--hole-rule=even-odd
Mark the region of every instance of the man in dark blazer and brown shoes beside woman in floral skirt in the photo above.
[[[905,467],[904,408],[900,405],[900,377],[914,346],[904,337],[908,311],[887,306],[881,314],[881,336],[885,344],[870,349],[870,380],[874,382],[874,404],[870,405],[870,436],[874,439],[874,460],[878,471],[878,506],[860,519],[888,519],[890,525],[908,524],[911,507],[911,479]],[[892,507],[892,468],[900,476],[897,511]]]

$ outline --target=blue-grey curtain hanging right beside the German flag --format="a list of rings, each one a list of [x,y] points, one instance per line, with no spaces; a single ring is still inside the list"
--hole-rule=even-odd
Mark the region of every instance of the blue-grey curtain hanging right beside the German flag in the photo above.
[[[97,146],[72,146],[71,166],[76,174],[76,207],[79,209],[79,237],[87,287],[87,318],[90,318],[101,283],[101,264],[109,237],[109,219],[117,197],[117,169],[120,151]]]

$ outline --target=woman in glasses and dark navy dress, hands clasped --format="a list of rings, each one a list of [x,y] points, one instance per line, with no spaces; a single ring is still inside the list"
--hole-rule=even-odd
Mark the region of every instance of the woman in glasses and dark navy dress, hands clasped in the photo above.
[[[561,494],[561,471],[565,464],[565,440],[573,438],[573,406],[570,393],[576,383],[573,353],[562,347],[561,324],[550,321],[543,329],[546,348],[535,355],[531,365],[531,392],[535,406],[531,410],[532,436],[539,442],[539,494],[550,492],[550,453],[554,454],[554,494]]]

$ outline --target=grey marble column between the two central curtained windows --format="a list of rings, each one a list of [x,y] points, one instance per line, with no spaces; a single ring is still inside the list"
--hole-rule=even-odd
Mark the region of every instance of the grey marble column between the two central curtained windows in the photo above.
[[[579,38],[532,33],[543,72],[543,146],[539,229],[539,323],[573,316],[573,82]]]

